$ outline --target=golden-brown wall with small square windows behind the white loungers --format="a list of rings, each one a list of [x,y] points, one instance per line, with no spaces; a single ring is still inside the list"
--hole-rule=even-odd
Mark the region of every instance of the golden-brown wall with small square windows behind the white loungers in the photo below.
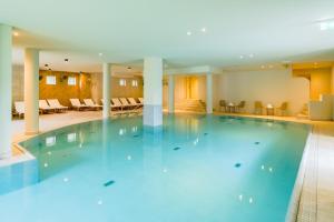
[[[24,85],[24,70],[22,65],[13,65],[12,78],[12,100],[23,101],[23,85]],[[63,105],[70,105],[70,98],[92,98],[96,102],[100,103],[102,98],[102,74],[101,73],[73,73],[62,71],[40,71],[42,77],[39,81],[39,97],[40,99],[58,99]],[[57,84],[47,85],[46,77],[56,75]],[[67,80],[63,77],[76,77],[77,84],[68,85]],[[143,97],[143,78],[132,77],[124,78],[127,80],[126,87],[119,85],[119,79],[117,77],[111,78],[111,97],[125,97],[125,98],[139,98]],[[138,80],[138,87],[131,85],[131,80]]]

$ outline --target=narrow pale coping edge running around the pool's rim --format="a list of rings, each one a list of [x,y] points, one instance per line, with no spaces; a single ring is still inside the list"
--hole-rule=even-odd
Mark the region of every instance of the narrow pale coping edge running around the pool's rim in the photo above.
[[[176,113],[177,114],[177,113]],[[180,113],[180,114],[205,114],[206,113]],[[261,120],[267,120],[267,121],[275,121],[275,122],[291,122],[291,123],[298,123],[298,124],[305,124],[305,125],[310,125],[311,129],[308,131],[308,135],[305,142],[305,147],[303,150],[303,155],[302,155],[302,160],[299,162],[299,167],[298,167],[298,172],[297,172],[297,176],[295,179],[295,183],[293,186],[293,191],[291,194],[291,199],[289,199],[289,203],[288,203],[288,208],[287,208],[287,212],[286,212],[286,216],[285,216],[285,221],[286,222],[296,222],[298,219],[298,213],[299,213],[299,205],[301,205],[301,198],[302,198],[302,193],[303,193],[303,186],[304,186],[304,182],[305,182],[305,174],[306,174],[306,170],[308,167],[308,161],[307,159],[311,155],[311,138],[314,133],[314,125],[312,123],[306,123],[303,121],[294,121],[294,120],[284,120],[284,119],[274,119],[271,115],[261,115],[261,117],[253,117],[253,115],[243,115],[243,114],[230,114],[230,113],[213,113],[212,115],[216,115],[216,117],[239,117],[239,118],[244,118],[244,119],[261,119]],[[117,117],[116,119],[118,119],[119,117]],[[112,119],[112,117],[110,117],[109,119]],[[108,120],[109,120],[108,119]],[[114,118],[115,119],[115,118]],[[16,147],[19,151],[22,152],[22,154],[17,155],[17,157],[12,157],[11,159],[8,160],[3,160],[0,161],[0,168],[2,167],[8,167],[11,164],[16,164],[16,163],[21,163],[24,161],[31,161],[31,160],[37,160],[35,155],[32,155],[26,148],[23,148],[22,145],[20,145],[19,143],[33,139],[36,137],[39,137],[41,134],[46,134],[49,133],[51,131],[55,130],[60,130],[67,127],[72,127],[72,125],[78,125],[78,124],[82,124],[82,123],[89,123],[89,122],[94,122],[94,121],[102,121],[104,118],[97,118],[94,120],[87,120],[87,121],[82,121],[82,122],[77,122],[73,124],[67,124],[67,125],[61,125],[59,128],[53,128],[47,131],[42,131],[38,134],[35,135],[27,135],[26,138],[22,138],[16,142],[12,143],[13,147]]]

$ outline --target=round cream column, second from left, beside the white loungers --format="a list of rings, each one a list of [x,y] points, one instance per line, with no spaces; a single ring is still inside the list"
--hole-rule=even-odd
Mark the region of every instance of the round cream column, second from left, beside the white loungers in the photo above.
[[[24,50],[24,122],[26,134],[39,132],[39,51]]]

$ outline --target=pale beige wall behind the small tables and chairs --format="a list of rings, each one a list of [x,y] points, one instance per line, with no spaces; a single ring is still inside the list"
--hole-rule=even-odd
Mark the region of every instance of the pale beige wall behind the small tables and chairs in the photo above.
[[[287,101],[291,114],[296,114],[308,102],[310,83],[305,78],[293,78],[289,70],[227,72],[215,77],[214,92],[216,110],[223,99],[234,103],[245,100],[249,113],[256,100],[275,107]]]

